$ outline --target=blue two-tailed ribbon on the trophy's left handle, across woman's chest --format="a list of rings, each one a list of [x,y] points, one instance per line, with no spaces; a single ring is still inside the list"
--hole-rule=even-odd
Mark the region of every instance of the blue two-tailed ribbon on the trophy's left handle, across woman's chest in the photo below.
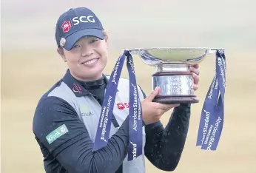
[[[125,50],[123,55],[118,58],[115,67],[110,75],[110,81],[107,85],[104,97],[101,117],[98,122],[98,129],[95,137],[95,143],[92,152],[107,146],[110,138],[110,125],[112,120],[112,112],[114,109],[115,95],[118,88],[121,70],[124,60],[127,57],[127,69],[129,72],[129,145],[128,160],[133,160],[142,155],[142,109],[141,101],[138,95],[138,85],[135,77],[135,69],[132,55]]]

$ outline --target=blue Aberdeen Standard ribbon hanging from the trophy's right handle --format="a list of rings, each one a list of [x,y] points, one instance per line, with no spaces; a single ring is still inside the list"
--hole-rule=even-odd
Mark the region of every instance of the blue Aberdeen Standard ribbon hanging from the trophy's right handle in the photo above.
[[[206,95],[201,112],[196,146],[216,150],[224,121],[224,95],[226,88],[226,56],[216,50],[216,75]]]

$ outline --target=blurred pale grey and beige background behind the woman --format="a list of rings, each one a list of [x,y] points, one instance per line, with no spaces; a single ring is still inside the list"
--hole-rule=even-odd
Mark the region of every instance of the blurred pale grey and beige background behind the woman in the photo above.
[[[89,7],[110,35],[110,74],[123,48],[221,47],[227,79],[223,134],[218,149],[195,147],[215,56],[201,63],[186,146],[177,173],[253,173],[256,163],[256,1],[1,1],[1,172],[44,172],[32,132],[41,95],[64,75],[56,52],[55,23],[70,7]],[[153,67],[135,58],[138,83],[149,94]],[[122,77],[127,78],[124,66]],[[166,125],[171,112],[161,121]],[[146,160],[146,172],[162,172]]]

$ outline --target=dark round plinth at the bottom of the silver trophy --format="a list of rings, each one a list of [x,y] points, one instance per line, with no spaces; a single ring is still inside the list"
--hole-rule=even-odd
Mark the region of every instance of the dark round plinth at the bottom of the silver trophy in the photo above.
[[[155,96],[153,102],[159,104],[196,104],[199,103],[199,98],[195,95],[187,96]]]

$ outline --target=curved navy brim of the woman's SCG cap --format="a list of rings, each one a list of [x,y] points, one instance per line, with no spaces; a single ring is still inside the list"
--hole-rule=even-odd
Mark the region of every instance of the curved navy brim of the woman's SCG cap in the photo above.
[[[97,38],[100,38],[101,40],[104,39],[104,34],[102,30],[99,30],[99,29],[79,30],[78,32],[75,32],[66,38],[66,43],[64,45],[65,50],[71,50],[74,44],[84,36],[95,36]]]

